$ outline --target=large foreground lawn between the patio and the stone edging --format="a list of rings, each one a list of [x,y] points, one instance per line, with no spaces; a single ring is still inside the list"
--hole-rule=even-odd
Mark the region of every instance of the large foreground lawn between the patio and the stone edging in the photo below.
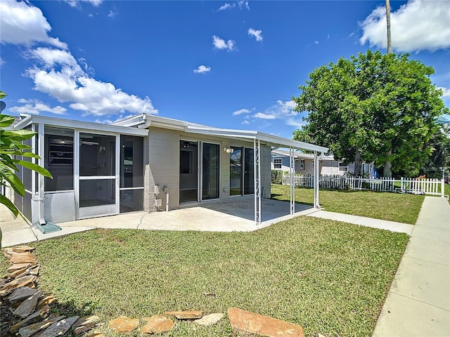
[[[39,287],[60,300],[60,312],[99,315],[107,335],[118,315],[238,307],[300,324],[310,337],[359,337],[371,336],[407,242],[298,217],[250,233],[92,230],[39,242],[34,254]],[[236,335],[222,319],[177,322],[167,336]]]

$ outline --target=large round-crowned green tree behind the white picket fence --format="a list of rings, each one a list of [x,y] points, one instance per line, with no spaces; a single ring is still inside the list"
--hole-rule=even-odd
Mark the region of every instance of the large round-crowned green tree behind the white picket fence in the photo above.
[[[430,156],[437,119],[449,113],[432,67],[409,54],[367,51],[309,74],[295,111],[308,112],[294,139],[329,147],[335,159],[361,160],[415,176]]]

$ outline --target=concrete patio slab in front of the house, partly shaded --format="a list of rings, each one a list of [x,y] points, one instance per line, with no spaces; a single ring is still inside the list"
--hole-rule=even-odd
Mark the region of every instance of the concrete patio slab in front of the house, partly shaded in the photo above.
[[[117,216],[89,218],[58,223],[62,230],[42,234],[22,218],[14,219],[11,212],[0,206],[0,228],[3,232],[3,247],[41,241],[52,237],[92,230],[94,228],[129,228],[140,230],[198,230],[210,232],[251,232],[273,223],[293,218],[290,204],[271,199],[262,200],[262,223],[255,225],[254,201],[240,198],[236,201],[208,202],[186,205],[172,211],[123,213]],[[308,215],[318,211],[307,205],[295,205],[295,215]]]

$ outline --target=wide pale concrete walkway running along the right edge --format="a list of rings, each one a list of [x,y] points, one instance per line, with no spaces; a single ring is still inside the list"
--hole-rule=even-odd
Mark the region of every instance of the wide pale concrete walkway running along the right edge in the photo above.
[[[425,197],[373,337],[450,336],[450,205]]]

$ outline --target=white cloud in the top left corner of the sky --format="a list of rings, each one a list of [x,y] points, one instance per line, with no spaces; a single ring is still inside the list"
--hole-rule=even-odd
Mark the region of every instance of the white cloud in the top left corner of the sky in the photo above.
[[[51,26],[37,7],[25,1],[0,1],[1,43],[32,46],[37,42],[66,49],[67,44],[49,37]]]

